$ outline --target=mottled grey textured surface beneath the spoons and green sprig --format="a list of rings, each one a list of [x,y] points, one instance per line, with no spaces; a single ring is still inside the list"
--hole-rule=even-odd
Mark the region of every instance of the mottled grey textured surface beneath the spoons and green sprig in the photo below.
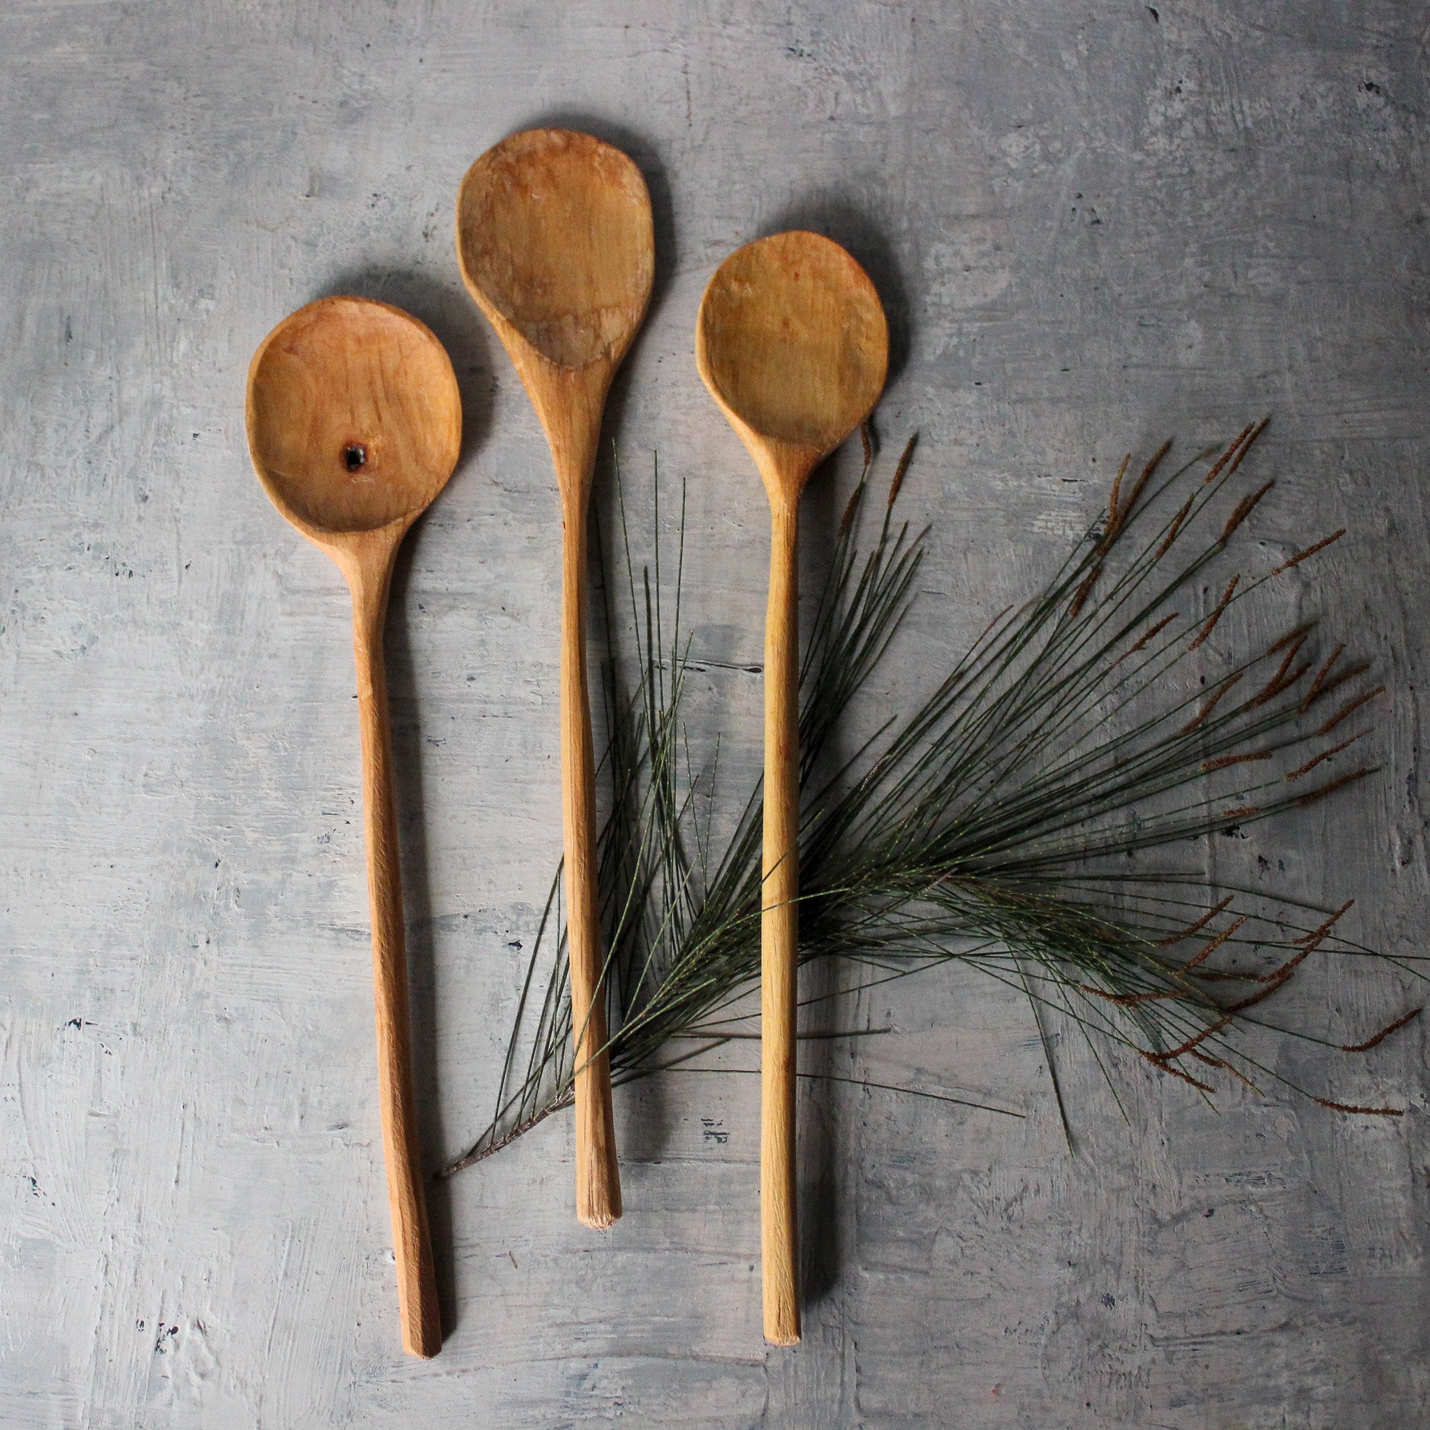
[[[571,1216],[565,1120],[448,1184],[452,1330],[405,1358],[347,598],[242,430],[255,345],[322,293],[408,306],[462,375],[465,458],[389,629],[433,1161],[483,1121],[559,848],[552,482],[452,252],[463,170],[533,123],[651,183],[658,289],[611,433],[638,525],[654,449],[691,480],[705,658],[759,658],[759,492],[691,360],[742,240],[822,227],[888,303],[881,425],[922,432],[907,500],[937,522],[909,689],[1048,573],[1124,448],[1271,410],[1248,559],[1351,535],[1238,638],[1313,611],[1354,632],[1394,692],[1386,768],[1205,857],[1354,897],[1348,931],[1416,951],[1427,39],[1404,0],[10,0],[0,1420],[1430,1423],[1419,1025],[1354,1062],[1266,1047],[1399,1121],[1217,1113],[1124,1065],[1124,1123],[1068,1044],[1070,1158],[1027,1010],[954,977],[869,1001],[898,1031],[851,1067],[1028,1120],[809,1093],[798,1350],[759,1337],[755,1084],[688,1077],[621,1095],[608,1236]],[[811,493],[812,559],[848,479]],[[699,695],[734,786],[758,679],[712,666]],[[1344,1041],[1411,997],[1327,961],[1281,1011]]]

